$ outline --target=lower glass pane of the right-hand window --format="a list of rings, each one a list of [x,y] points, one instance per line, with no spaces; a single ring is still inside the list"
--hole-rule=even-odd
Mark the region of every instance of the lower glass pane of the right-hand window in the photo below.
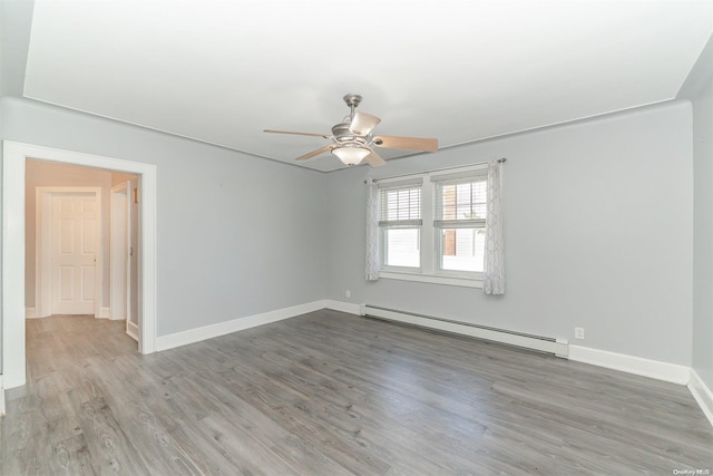
[[[484,229],[442,229],[441,269],[482,272],[485,246]]]

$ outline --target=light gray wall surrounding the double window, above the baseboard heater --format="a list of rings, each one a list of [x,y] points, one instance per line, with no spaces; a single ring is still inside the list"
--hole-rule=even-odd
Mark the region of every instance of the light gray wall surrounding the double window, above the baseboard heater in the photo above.
[[[688,366],[691,155],[691,108],[681,101],[330,174],[329,298]],[[506,295],[364,281],[368,175],[499,157],[508,158]],[[575,327],[585,340],[574,340]]]

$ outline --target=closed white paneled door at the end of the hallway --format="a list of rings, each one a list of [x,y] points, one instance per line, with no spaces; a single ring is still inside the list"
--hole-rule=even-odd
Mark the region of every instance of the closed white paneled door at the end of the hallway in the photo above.
[[[99,208],[92,193],[51,197],[50,260],[53,314],[94,314]]]

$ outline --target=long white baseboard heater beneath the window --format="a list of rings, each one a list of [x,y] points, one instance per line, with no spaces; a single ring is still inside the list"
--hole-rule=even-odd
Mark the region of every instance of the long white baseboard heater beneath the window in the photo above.
[[[370,318],[389,321],[406,322],[429,329],[470,336],[492,342],[506,343],[540,352],[554,353],[557,357],[567,358],[568,343],[565,339],[533,336],[515,332],[506,329],[490,328],[467,322],[451,321],[449,319],[434,318],[432,315],[404,312],[395,309],[380,308],[378,305],[361,304],[361,314]]]

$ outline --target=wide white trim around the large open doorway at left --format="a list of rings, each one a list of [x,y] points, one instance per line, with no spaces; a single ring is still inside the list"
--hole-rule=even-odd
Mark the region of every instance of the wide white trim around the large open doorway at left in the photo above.
[[[25,169],[28,158],[127,172],[139,176],[139,341],[156,351],[156,165],[50,147],[3,142],[2,159],[2,380],[26,382]]]

